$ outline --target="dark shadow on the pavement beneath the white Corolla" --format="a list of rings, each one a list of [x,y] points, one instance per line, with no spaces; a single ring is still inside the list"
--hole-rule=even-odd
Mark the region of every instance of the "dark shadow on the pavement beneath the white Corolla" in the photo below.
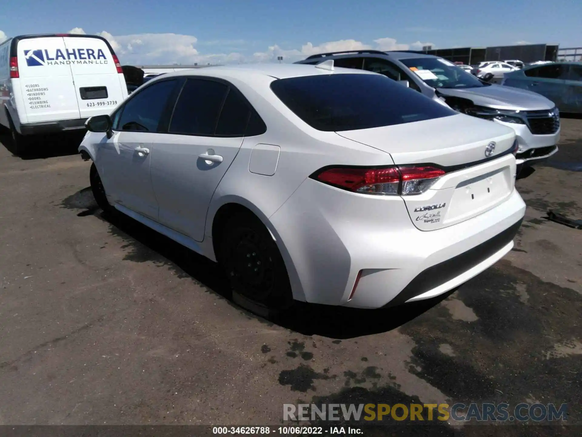
[[[95,216],[107,223],[109,232],[122,240],[122,248],[126,251],[124,260],[165,266],[173,270],[178,277],[189,277],[200,286],[207,288],[209,292],[226,299],[244,316],[255,318],[261,323],[275,323],[304,335],[350,339],[388,332],[420,316],[455,291],[452,290],[437,298],[421,302],[381,309],[357,309],[296,302],[289,311],[267,320],[233,303],[228,281],[217,263],[190,251],[133,218],[120,213],[102,212],[93,199],[91,188],[84,188],[69,196],[61,205],[77,210],[79,217]]]

